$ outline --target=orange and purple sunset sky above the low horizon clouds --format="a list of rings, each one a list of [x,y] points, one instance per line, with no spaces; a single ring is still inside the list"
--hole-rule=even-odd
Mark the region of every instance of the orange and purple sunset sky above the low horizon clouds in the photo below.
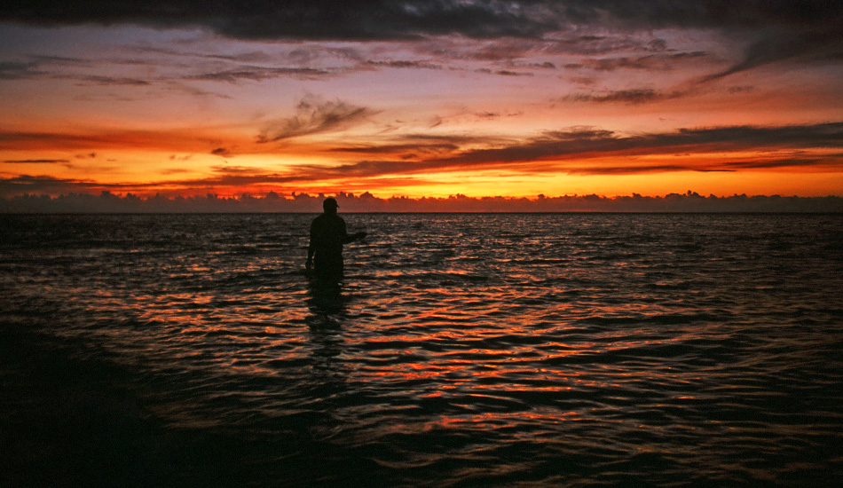
[[[0,197],[843,196],[839,1],[0,7]]]

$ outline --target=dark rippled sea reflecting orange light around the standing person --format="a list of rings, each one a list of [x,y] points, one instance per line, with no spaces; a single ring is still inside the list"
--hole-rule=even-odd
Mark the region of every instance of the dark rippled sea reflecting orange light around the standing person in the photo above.
[[[839,486],[843,216],[0,215],[0,486]]]

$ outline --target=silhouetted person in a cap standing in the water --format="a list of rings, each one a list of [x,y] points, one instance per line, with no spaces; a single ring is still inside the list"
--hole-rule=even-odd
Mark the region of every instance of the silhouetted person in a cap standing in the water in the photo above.
[[[336,215],[339,205],[328,197],[322,202],[325,213],[313,219],[311,244],[305,266],[320,279],[343,277],[343,244],[366,237],[366,232],[349,235],[343,217]]]

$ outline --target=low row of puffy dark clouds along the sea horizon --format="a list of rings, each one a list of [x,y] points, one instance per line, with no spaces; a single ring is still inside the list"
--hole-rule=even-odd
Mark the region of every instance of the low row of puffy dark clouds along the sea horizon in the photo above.
[[[843,213],[843,197],[784,197],[779,195],[732,195],[707,197],[698,193],[671,193],[665,196],[603,197],[574,195],[536,198],[483,197],[452,195],[447,198],[382,199],[371,193],[335,195],[343,212],[773,212],[773,213]],[[214,194],[204,197],[168,198],[156,195],[140,198],[127,194],[118,196],[102,192],[99,195],[72,193],[59,197],[21,195],[0,198],[0,213],[317,213],[321,211],[323,194],[293,193],[281,196],[267,193],[263,197],[242,195],[240,198],[221,198]]]

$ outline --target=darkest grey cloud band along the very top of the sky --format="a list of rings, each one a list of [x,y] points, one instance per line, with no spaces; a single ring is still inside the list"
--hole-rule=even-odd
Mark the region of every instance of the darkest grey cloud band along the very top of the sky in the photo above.
[[[419,35],[537,37],[572,25],[634,28],[786,28],[839,26],[831,0],[28,0],[6,2],[0,20],[39,25],[135,23],[199,26],[237,38],[403,39]],[[594,42],[600,36],[592,36]],[[588,40],[588,39],[583,39]],[[653,44],[652,49],[659,45]]]

